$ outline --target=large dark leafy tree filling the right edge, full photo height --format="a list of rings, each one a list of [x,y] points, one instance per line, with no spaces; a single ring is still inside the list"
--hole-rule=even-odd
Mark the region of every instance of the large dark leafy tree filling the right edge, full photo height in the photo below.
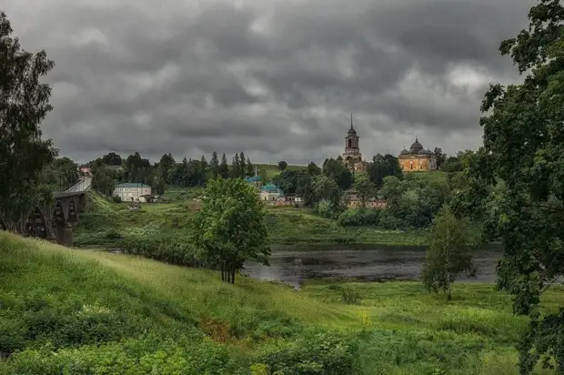
[[[528,315],[519,343],[519,370],[528,374],[543,357],[564,373],[564,310],[542,315],[542,293],[564,274],[564,6],[539,0],[529,29],[501,42],[519,85],[491,85],[480,119],[484,144],[471,157],[467,202],[460,207],[486,218],[484,240],[500,239],[497,286],[513,296],[513,310]],[[503,181],[503,189],[484,189]]]

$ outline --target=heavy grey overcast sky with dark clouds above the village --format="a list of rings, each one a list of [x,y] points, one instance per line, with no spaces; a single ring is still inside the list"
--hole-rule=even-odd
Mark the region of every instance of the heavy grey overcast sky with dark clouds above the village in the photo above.
[[[304,164],[416,135],[477,148],[489,82],[519,79],[499,42],[534,0],[3,0],[15,35],[55,60],[43,123],[61,155]]]

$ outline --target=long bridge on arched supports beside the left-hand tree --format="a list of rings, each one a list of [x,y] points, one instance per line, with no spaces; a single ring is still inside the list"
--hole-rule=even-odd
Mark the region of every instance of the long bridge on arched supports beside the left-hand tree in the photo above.
[[[36,207],[25,224],[24,236],[45,238],[59,245],[73,245],[73,226],[86,208],[86,191],[92,177],[81,177],[72,187],[54,193],[49,205]]]

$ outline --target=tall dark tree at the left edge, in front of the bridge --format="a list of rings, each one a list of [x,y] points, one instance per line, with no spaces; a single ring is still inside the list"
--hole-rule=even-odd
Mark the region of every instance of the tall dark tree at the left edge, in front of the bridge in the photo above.
[[[40,185],[41,170],[57,152],[41,138],[39,124],[53,107],[51,87],[42,84],[55,63],[45,51],[20,47],[4,12],[0,12],[0,228],[22,232],[33,209],[52,199]]]

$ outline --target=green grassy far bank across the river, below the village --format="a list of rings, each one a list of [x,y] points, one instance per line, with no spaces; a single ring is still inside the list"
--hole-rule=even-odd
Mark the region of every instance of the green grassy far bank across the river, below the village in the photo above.
[[[89,192],[87,212],[81,214],[74,230],[75,245],[119,247],[124,238],[189,241],[189,220],[195,209],[196,203],[188,199],[147,204],[139,211],[129,211],[126,204],[116,204]],[[424,232],[418,231],[342,228],[334,220],[313,215],[307,208],[269,208],[268,215],[270,238],[275,245],[354,242],[417,246],[425,241]]]

